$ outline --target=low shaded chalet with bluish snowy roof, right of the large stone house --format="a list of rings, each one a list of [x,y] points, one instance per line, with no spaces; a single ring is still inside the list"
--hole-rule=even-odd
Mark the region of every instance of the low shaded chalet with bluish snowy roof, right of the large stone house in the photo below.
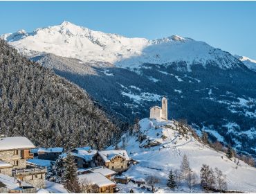
[[[63,148],[39,148],[37,150],[38,159],[55,161],[64,151]]]

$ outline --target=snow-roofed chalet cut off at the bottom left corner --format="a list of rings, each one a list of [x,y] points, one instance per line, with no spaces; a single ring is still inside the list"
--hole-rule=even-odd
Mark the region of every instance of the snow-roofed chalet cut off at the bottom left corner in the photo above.
[[[0,174],[0,193],[36,193],[37,188],[13,179],[8,175]]]

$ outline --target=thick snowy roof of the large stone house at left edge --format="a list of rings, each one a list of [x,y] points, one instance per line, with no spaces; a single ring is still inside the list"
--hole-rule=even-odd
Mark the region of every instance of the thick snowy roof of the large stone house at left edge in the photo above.
[[[0,150],[35,148],[35,145],[24,136],[0,138]]]

